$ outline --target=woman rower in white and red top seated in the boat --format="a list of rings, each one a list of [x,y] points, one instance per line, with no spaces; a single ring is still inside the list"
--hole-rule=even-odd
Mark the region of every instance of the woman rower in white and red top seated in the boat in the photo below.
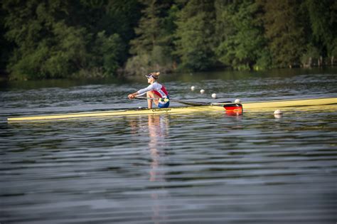
[[[147,107],[149,109],[152,108],[152,102],[159,108],[169,107],[169,93],[166,91],[166,87],[161,83],[157,82],[159,78],[159,72],[150,73],[149,75],[145,75],[147,78],[147,82],[150,84],[148,87],[138,90],[137,92],[129,94],[130,100],[134,99],[134,97],[143,95],[146,93],[147,97]]]

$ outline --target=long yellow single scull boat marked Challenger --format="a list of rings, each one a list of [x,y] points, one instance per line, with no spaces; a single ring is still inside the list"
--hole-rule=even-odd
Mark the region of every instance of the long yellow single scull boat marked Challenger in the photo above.
[[[171,100],[173,101],[173,100]],[[141,114],[168,114],[168,113],[188,113],[188,112],[203,112],[203,111],[224,111],[227,112],[242,112],[250,110],[277,109],[284,107],[306,107],[317,105],[337,105],[337,97],[330,98],[315,98],[315,99],[300,99],[300,100],[273,100],[264,102],[220,102],[220,103],[205,103],[205,102],[188,102],[176,100],[176,102],[186,103],[194,106],[188,107],[169,107],[156,109],[141,109],[141,110],[108,110],[100,112],[79,112],[68,114],[47,114],[47,115],[32,115],[28,117],[9,117],[8,122],[46,120],[46,119],[74,119],[83,117],[107,117],[107,116],[128,116]],[[198,105],[199,104],[199,105]]]

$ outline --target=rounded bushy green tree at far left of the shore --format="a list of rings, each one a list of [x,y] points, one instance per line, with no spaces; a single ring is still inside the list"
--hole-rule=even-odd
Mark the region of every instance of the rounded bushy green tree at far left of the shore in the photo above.
[[[18,42],[20,48],[11,58],[11,79],[66,78],[86,66],[85,28],[74,28],[62,21],[49,27],[33,21],[28,24],[28,38]],[[48,32],[48,36],[33,35]],[[38,38],[39,41],[35,41]]]

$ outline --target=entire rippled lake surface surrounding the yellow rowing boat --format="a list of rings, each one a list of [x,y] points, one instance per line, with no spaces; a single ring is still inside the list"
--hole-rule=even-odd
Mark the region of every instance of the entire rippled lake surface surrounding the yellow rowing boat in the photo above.
[[[336,97],[336,74],[163,80],[176,99],[251,101]],[[144,107],[126,95],[145,85],[6,84],[0,117]],[[0,122],[0,223],[336,223],[337,108],[324,109]]]

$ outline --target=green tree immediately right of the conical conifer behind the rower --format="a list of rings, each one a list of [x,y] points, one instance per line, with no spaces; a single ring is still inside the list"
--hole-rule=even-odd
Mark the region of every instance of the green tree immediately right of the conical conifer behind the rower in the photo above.
[[[207,70],[215,63],[215,23],[212,1],[191,0],[178,13],[176,51],[181,68]]]

